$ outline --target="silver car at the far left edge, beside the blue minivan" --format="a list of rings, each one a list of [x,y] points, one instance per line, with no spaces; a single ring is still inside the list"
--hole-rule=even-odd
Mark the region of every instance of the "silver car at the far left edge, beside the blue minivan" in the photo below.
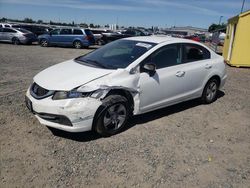
[[[31,44],[37,41],[32,32],[21,28],[0,28],[0,41],[12,44]]]

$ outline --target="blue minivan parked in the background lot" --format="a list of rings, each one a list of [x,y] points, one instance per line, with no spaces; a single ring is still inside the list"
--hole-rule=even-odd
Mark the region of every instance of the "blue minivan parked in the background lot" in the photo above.
[[[54,29],[49,34],[40,35],[38,41],[42,47],[73,46],[77,49],[95,44],[93,33],[89,29],[81,28]]]

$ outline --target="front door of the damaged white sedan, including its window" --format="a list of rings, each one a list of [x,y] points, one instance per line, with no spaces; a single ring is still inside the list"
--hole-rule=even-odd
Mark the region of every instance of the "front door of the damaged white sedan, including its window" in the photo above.
[[[153,63],[156,72],[150,76],[143,65]],[[140,111],[146,112],[165,106],[176,95],[183,92],[183,73],[181,72],[181,46],[166,45],[146,58],[140,73]]]

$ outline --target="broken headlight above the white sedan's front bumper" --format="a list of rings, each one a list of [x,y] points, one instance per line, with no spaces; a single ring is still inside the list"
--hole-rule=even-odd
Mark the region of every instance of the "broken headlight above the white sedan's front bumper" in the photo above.
[[[77,90],[56,91],[52,99],[61,100],[61,99],[83,98],[83,97],[100,98],[103,94],[104,94],[103,90],[95,90],[91,92],[79,92]]]

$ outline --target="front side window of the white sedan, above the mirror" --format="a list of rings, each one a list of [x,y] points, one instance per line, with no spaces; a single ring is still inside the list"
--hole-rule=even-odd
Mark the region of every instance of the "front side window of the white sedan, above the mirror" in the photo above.
[[[179,65],[181,64],[181,47],[179,44],[164,46],[146,58],[143,65],[146,63],[155,64],[156,69]]]

